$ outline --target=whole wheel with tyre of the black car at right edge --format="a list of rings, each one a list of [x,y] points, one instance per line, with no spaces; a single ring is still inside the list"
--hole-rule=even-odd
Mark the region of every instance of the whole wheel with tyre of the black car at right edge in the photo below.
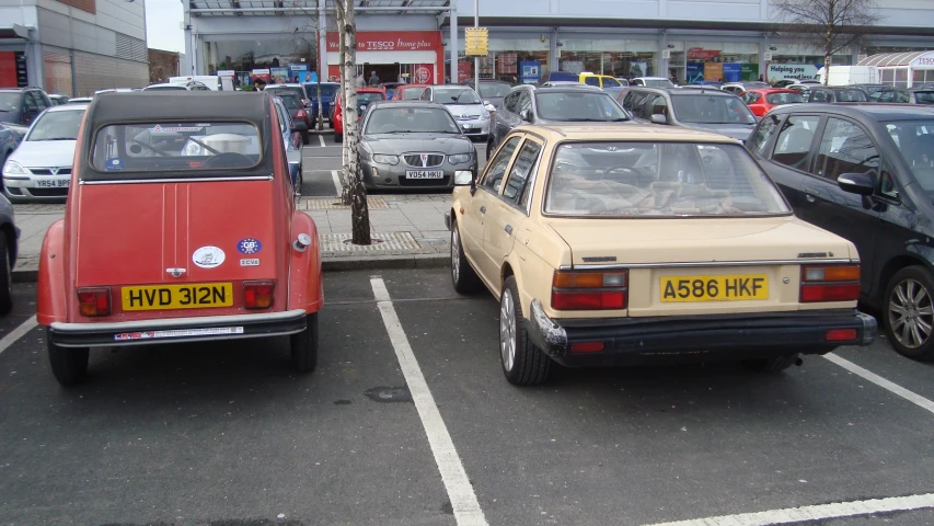
[[[922,266],[896,273],[886,287],[884,317],[892,347],[912,359],[934,359],[934,278]]]

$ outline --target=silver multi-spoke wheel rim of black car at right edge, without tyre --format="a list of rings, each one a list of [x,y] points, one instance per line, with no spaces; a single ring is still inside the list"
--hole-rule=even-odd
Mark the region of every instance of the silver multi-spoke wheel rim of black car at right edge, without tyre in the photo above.
[[[927,342],[934,328],[934,304],[924,285],[908,278],[895,287],[889,298],[889,327],[898,343],[908,348]]]

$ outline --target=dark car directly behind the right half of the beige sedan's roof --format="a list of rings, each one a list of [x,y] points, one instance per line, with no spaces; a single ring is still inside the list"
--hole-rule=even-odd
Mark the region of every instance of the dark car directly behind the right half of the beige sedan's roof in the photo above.
[[[756,126],[756,116],[738,96],[716,88],[630,87],[623,108],[636,122],[714,132],[743,141]]]

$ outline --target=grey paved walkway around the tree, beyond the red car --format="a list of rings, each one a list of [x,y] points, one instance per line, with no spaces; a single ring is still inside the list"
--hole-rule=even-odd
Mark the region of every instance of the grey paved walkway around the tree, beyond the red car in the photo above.
[[[324,270],[393,268],[445,266],[448,264],[450,232],[445,227],[445,210],[451,193],[415,191],[372,193],[368,196],[371,235],[377,242],[354,245],[350,239],[350,208],[337,198],[341,145],[328,133],[312,135],[302,150],[303,184],[299,209],[318,225]],[[481,160],[486,145],[476,144]],[[481,161],[483,162],[483,161]],[[20,253],[13,268],[14,282],[34,282],[38,256],[48,227],[65,215],[64,204],[15,204]]]

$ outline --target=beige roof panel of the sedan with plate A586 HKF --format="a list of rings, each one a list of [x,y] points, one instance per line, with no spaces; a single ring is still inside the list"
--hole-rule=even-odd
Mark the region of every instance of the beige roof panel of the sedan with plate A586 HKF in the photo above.
[[[626,126],[593,126],[586,124],[526,125],[517,132],[533,132],[545,139],[557,140],[671,140],[699,142],[724,142],[739,145],[737,139],[720,134],[697,132],[678,126],[657,126],[650,124],[630,124]]]

